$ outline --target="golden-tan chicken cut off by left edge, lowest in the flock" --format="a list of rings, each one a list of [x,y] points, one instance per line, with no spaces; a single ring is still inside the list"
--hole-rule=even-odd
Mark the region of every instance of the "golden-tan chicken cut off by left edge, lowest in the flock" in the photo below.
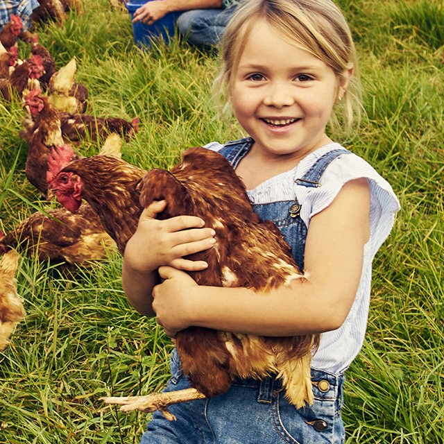
[[[10,335],[25,315],[15,283],[19,259],[15,250],[0,257],[0,352],[6,348]]]

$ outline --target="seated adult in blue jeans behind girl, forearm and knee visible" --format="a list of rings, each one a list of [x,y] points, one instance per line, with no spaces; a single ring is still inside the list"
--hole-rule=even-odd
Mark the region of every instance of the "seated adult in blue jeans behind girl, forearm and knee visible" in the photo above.
[[[151,25],[168,12],[184,11],[177,21],[180,35],[200,48],[210,48],[219,42],[236,3],[237,0],[153,0],[135,11],[133,23]]]

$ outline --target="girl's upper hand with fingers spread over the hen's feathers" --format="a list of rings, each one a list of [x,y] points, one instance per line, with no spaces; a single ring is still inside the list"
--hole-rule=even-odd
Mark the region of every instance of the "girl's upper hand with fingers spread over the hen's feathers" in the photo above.
[[[203,228],[204,221],[196,216],[155,219],[166,205],[165,200],[155,201],[142,212],[137,230],[126,244],[126,263],[142,273],[155,271],[162,265],[187,271],[207,268],[204,261],[190,261],[182,256],[214,246],[216,233],[212,228]]]

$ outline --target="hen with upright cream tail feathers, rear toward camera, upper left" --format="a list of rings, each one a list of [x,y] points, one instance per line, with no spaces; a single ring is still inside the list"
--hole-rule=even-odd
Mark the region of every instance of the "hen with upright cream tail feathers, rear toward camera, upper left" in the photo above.
[[[60,111],[74,114],[87,109],[88,90],[85,85],[76,83],[77,65],[73,58],[60,68],[49,80],[48,95],[53,105]]]

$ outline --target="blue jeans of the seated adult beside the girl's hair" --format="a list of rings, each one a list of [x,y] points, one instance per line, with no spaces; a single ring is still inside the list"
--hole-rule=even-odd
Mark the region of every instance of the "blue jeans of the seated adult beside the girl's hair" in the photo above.
[[[180,35],[201,48],[219,43],[235,6],[226,9],[194,9],[182,12],[177,21]]]

